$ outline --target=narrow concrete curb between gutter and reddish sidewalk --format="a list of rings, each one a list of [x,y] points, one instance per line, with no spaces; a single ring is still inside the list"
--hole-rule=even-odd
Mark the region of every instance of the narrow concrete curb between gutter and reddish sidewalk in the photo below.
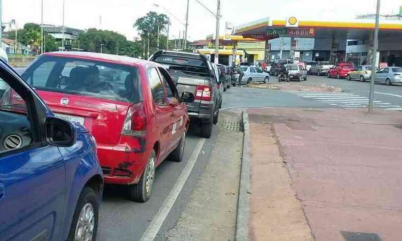
[[[236,216],[236,236],[235,240],[247,241],[248,234],[248,221],[250,210],[250,194],[251,194],[251,163],[249,158],[249,139],[250,129],[248,123],[248,113],[246,110],[242,113],[243,117],[243,158],[242,167],[240,171],[240,186],[237,202],[237,216]]]

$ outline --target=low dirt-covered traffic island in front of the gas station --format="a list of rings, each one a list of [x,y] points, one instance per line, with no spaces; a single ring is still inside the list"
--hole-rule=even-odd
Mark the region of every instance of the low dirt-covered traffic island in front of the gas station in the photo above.
[[[309,92],[342,92],[341,88],[334,87],[332,85],[322,84],[309,84],[309,83],[294,83],[294,82],[283,82],[283,83],[266,83],[258,84],[251,83],[246,85],[252,88],[265,88],[272,90],[281,91],[309,91]]]

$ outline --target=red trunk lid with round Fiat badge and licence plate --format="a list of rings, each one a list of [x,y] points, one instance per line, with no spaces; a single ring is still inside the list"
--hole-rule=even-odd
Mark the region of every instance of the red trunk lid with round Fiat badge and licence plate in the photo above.
[[[119,142],[131,103],[40,90],[37,93],[56,116],[80,123],[97,142]]]

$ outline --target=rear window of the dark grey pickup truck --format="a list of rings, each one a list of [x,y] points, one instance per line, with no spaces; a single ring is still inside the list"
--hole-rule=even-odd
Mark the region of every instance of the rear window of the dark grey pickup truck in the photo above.
[[[153,60],[167,70],[179,70],[185,74],[209,76],[208,66],[202,59],[186,56],[159,55]]]

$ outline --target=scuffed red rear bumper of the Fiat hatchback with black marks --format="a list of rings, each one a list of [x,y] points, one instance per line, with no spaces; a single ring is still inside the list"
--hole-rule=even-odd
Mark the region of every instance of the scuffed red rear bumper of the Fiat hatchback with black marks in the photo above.
[[[98,143],[105,183],[137,183],[148,161],[145,145],[145,138],[131,136],[122,136],[117,145]]]

